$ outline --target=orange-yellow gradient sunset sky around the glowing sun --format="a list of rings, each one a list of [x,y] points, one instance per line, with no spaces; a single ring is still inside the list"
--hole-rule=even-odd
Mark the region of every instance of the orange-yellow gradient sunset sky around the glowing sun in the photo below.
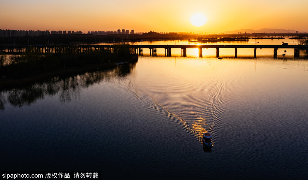
[[[294,29],[308,32],[307,0],[0,0],[0,29],[135,32],[223,32]],[[195,27],[200,12],[208,22]]]

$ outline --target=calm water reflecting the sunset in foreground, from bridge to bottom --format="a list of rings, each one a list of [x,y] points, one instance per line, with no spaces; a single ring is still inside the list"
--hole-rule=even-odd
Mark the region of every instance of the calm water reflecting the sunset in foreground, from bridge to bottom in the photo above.
[[[238,50],[239,58],[232,52],[220,61],[191,49],[188,57],[143,56],[109,71],[2,89],[0,169],[305,179],[308,74],[305,54],[294,59],[289,51],[254,59],[253,50]],[[212,149],[201,143],[206,131]]]

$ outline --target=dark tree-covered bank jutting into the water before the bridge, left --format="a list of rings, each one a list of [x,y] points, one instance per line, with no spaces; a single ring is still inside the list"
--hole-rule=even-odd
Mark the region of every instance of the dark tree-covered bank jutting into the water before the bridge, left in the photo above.
[[[0,86],[23,84],[48,77],[87,70],[112,68],[119,62],[136,62],[135,49],[128,44],[111,49],[59,48],[58,53],[35,52],[29,46],[21,55],[0,54]]]

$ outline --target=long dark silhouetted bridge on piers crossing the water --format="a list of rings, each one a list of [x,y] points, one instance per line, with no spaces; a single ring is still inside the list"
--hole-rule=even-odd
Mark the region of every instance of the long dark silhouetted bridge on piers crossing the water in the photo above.
[[[27,49],[27,45],[0,45],[0,52],[7,54],[14,53],[23,53]],[[35,52],[51,52],[51,53],[59,53],[61,49],[70,48],[71,45],[37,45],[31,46],[35,48]],[[106,49],[110,52],[113,52],[112,45],[77,45],[77,52],[84,52],[88,49]],[[165,49],[165,56],[171,56],[171,49],[180,48],[181,56],[186,57],[186,49],[187,48],[198,48],[199,49],[199,57],[202,57],[202,49],[206,48],[215,48],[216,49],[216,57],[219,57],[219,49],[229,48],[234,49],[234,56],[237,57],[237,49],[254,49],[254,57],[257,57],[257,49],[273,49],[274,57],[277,57],[278,49],[294,49],[294,57],[299,57],[300,49],[307,49],[305,45],[131,45],[132,48],[135,48],[135,53],[143,56],[143,49],[149,49],[150,56],[157,56],[157,48]]]

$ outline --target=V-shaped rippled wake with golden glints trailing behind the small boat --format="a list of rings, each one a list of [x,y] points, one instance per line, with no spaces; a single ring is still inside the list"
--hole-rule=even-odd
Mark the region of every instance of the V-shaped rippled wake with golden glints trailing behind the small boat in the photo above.
[[[217,106],[223,103],[217,96],[205,93],[206,95],[200,98],[180,93],[166,95],[156,91],[145,92],[138,88],[135,82],[129,82],[128,89],[138,100],[150,97],[154,103],[151,108],[165,112],[170,120],[180,123],[185,131],[194,135],[200,143],[203,143],[204,132],[212,134],[214,143],[219,129],[219,113],[222,112]]]

